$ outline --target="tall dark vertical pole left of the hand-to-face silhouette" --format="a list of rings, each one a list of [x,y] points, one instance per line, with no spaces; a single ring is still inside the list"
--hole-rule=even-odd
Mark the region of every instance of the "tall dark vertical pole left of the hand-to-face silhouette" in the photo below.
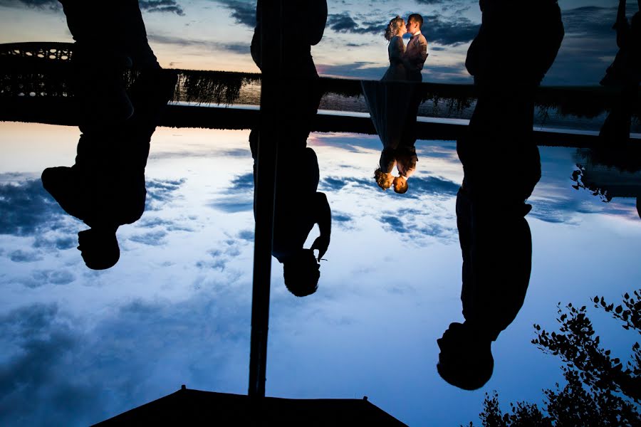
[[[259,0],[261,1],[261,0]],[[261,12],[261,112],[256,161],[254,234],[254,287],[251,297],[251,344],[249,353],[249,396],[264,397],[269,330],[269,290],[273,206],[278,153],[279,79],[282,64],[283,0],[263,0]]]

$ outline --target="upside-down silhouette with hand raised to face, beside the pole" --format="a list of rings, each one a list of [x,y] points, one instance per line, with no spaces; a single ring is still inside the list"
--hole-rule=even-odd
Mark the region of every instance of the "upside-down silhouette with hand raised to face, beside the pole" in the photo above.
[[[256,4],[256,29],[251,42],[251,56],[261,69],[262,4],[261,0]],[[283,63],[276,76],[281,91],[268,100],[278,105],[278,115],[284,124],[278,128],[272,255],[283,264],[283,278],[288,290],[303,297],[318,288],[318,262],[328,249],[331,233],[330,206],[325,194],[317,191],[320,176],[318,159],[313,149],[307,147],[312,120],[322,95],[311,46],[323,37],[327,2],[286,2],[283,14],[284,22],[304,25],[300,33],[283,38]],[[254,182],[260,136],[259,127],[251,130],[249,135],[254,158]],[[310,248],[303,248],[315,224],[318,224],[320,236]],[[314,254],[316,250],[318,256]]]

